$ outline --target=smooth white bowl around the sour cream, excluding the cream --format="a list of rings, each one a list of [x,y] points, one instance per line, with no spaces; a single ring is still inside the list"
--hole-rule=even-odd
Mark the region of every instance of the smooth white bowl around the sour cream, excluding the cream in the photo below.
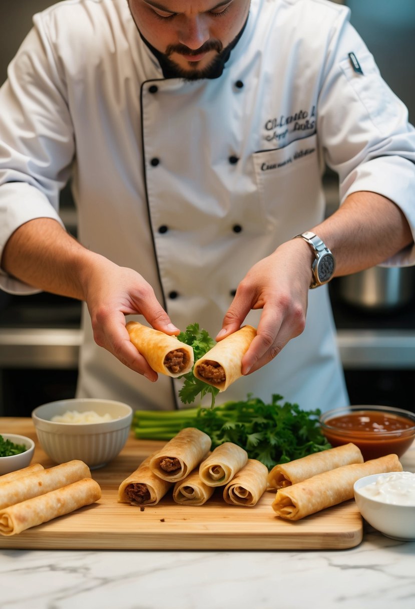
[[[390,474],[372,474],[360,478],[354,484],[357,507],[363,518],[372,527],[392,539],[415,540],[415,507],[413,505],[388,504],[361,495],[361,488],[376,482],[379,477]]]

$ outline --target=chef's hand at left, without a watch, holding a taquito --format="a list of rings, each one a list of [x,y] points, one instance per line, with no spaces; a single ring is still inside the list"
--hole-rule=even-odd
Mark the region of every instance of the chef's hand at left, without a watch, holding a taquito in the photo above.
[[[139,273],[100,258],[84,282],[85,300],[91,315],[94,340],[124,365],[156,381],[157,373],[130,341],[125,315],[144,315],[153,328],[166,334],[179,334],[169,315],[159,304],[154,290]]]

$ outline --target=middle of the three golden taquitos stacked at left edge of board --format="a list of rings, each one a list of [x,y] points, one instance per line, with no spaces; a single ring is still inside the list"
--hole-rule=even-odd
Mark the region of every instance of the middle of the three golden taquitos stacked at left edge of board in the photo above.
[[[4,482],[0,484],[0,510],[90,477],[88,465],[83,461],[73,460]]]

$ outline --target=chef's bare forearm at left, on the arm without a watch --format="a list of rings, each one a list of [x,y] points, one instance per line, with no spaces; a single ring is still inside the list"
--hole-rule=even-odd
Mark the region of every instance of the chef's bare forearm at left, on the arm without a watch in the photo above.
[[[10,236],[1,267],[38,289],[85,300],[85,276],[102,256],[89,252],[56,220],[37,218]]]

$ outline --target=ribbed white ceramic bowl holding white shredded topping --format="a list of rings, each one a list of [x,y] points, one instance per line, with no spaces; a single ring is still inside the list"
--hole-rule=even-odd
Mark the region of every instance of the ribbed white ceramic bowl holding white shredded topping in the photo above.
[[[57,423],[55,415],[68,411],[92,410],[99,415],[109,414],[111,421],[102,423]],[[106,465],[124,448],[130,433],[133,409],[113,400],[74,398],[38,406],[32,412],[38,440],[56,463],[79,459],[91,469]]]

